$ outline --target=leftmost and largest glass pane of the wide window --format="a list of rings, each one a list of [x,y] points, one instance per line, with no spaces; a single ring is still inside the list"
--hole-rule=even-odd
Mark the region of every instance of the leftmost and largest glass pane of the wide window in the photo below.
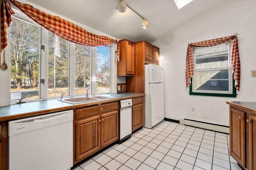
[[[10,27],[11,102],[40,98],[39,27],[13,18]]]

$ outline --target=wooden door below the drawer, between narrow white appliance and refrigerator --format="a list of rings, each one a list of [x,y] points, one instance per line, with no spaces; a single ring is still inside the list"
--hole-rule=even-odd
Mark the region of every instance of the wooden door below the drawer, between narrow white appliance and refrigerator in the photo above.
[[[132,106],[132,131],[142,127],[144,124],[143,104]]]

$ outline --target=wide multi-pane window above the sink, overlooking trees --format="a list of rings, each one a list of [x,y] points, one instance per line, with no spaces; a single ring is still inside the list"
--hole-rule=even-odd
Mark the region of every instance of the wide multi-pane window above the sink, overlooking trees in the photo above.
[[[115,76],[110,77],[116,65],[111,45],[71,43],[28,20],[16,17],[10,27],[11,104],[23,96],[24,101],[35,101],[59,98],[63,92],[70,97],[85,95],[89,86],[93,95],[114,89]]]

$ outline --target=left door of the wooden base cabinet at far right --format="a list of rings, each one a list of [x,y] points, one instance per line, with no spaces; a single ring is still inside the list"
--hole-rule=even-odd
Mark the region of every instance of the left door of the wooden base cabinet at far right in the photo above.
[[[245,113],[230,108],[230,155],[245,167]]]

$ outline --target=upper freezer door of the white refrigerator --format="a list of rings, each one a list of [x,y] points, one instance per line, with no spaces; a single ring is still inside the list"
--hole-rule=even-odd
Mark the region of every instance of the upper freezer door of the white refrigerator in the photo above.
[[[149,83],[164,82],[164,70],[162,66],[158,66],[155,64],[148,64],[148,73],[149,73]]]

